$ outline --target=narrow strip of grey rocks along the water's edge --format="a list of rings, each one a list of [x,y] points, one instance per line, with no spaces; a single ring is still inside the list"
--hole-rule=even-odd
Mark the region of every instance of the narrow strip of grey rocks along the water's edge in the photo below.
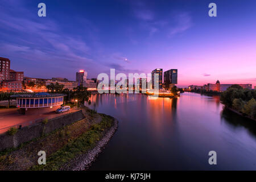
[[[106,131],[104,137],[102,137],[96,144],[96,146],[86,152],[86,154],[82,154],[77,156],[75,159],[72,159],[70,162],[61,167],[60,170],[64,171],[83,171],[87,170],[92,163],[96,160],[97,156],[104,150],[106,144],[108,144],[109,140],[113,137],[115,131],[118,128],[117,119],[114,120],[114,125]]]

